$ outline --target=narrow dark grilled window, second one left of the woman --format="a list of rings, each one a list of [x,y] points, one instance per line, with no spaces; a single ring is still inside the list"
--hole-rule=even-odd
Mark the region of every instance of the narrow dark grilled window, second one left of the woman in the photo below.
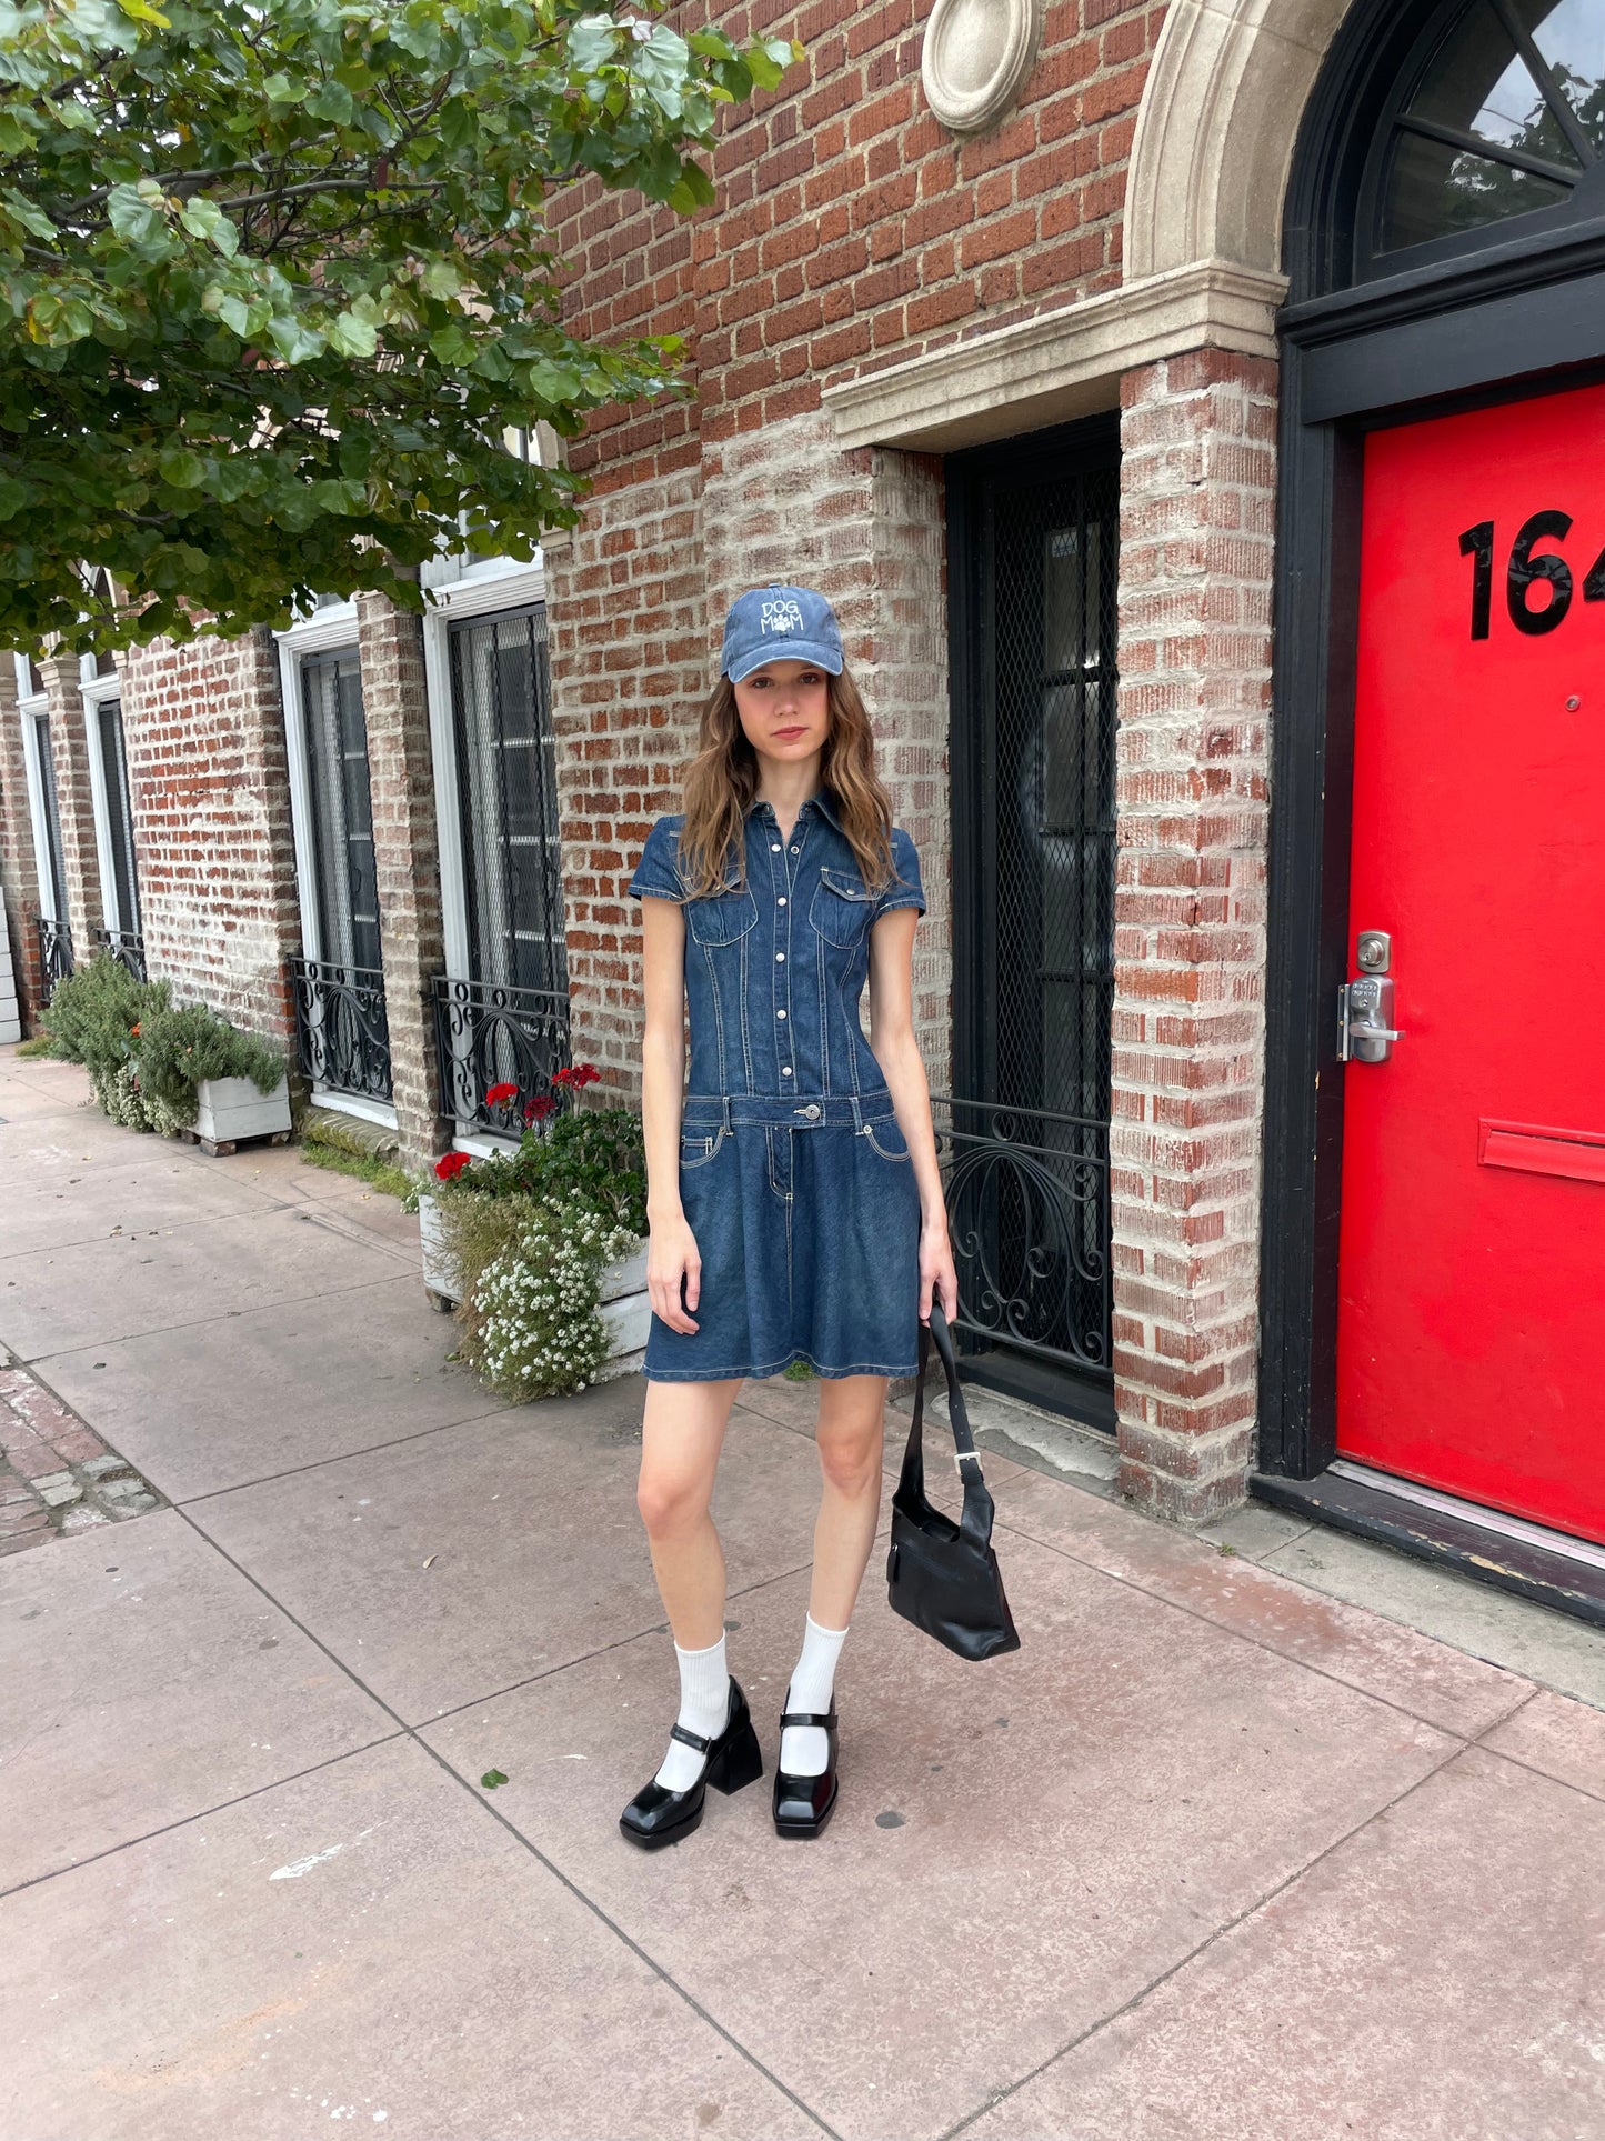
[[[319,957],[377,970],[379,882],[368,790],[368,724],[355,649],[302,662],[306,769],[312,790]]]

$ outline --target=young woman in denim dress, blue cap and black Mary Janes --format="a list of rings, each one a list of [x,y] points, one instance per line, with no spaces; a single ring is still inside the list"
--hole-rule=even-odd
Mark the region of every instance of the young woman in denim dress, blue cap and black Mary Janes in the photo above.
[[[920,865],[890,822],[830,604],[807,587],[740,595],[719,666],[685,814],[657,820],[629,882],[653,1302],[640,1512],[681,1666],[668,1756],[621,1816],[644,1850],[700,1824],[708,1783],[736,1792],[764,1773],[725,1666],[708,1516],[740,1379],[794,1360],[820,1377],[824,1494],[775,1775],[775,1828],[817,1837],[837,1803],[835,1670],[880,1514],[886,1379],[914,1375],[933,1291],[948,1317],[959,1306],[914,1041]]]

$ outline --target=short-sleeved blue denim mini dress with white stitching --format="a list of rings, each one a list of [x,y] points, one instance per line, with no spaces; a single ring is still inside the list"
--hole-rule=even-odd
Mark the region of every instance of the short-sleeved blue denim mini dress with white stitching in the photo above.
[[[685,904],[691,1066],[681,1115],[681,1203],[702,1293],[674,1332],[653,1317],[642,1372],[663,1383],[779,1375],[914,1375],[920,1190],[892,1096],[858,1023],[869,931],[924,912],[914,841],[892,831],[897,876],[867,889],[820,790],[781,837],[770,803],[747,811],[747,880],[691,899],[681,816],[659,818],[627,891]]]

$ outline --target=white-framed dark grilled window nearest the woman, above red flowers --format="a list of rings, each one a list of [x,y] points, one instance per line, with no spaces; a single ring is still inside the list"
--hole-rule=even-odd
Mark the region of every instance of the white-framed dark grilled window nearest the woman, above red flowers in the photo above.
[[[471,978],[567,996],[546,610],[452,625]]]

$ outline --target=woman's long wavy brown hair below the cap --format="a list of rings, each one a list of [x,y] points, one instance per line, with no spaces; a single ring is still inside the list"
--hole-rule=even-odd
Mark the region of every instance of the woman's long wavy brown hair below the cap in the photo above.
[[[877,893],[895,876],[892,801],[875,773],[869,709],[845,668],[828,679],[828,709],[820,779],[830,790],[865,884]],[[721,677],[702,709],[698,754],[685,773],[681,869],[691,880],[693,899],[721,891],[732,861],[736,876],[745,878],[743,826],[755,794],[758,754],[740,726],[736,687]]]

